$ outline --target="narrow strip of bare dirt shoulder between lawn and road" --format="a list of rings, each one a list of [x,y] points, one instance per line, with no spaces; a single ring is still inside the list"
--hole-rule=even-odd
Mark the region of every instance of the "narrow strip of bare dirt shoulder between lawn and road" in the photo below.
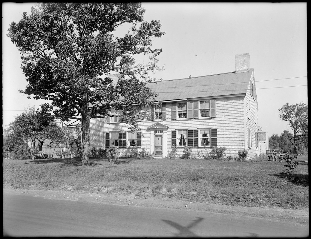
[[[189,200],[173,200],[160,197],[140,197],[133,195],[124,196],[122,194],[94,194],[86,192],[74,192],[70,190],[29,190],[14,189],[6,187],[3,193],[25,194],[40,196],[55,200],[88,201],[92,203],[118,204],[133,207],[158,207],[174,208],[181,210],[202,210],[213,213],[223,213],[230,215],[244,215],[256,218],[269,218],[280,221],[290,221],[301,224],[309,224],[309,209],[283,209],[283,208],[259,208],[259,207],[237,207],[221,204],[211,204],[209,202],[198,203]]]

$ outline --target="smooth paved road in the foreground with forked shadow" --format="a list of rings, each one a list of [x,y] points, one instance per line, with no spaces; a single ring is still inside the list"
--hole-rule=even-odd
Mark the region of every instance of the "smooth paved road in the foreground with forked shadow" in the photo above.
[[[206,211],[3,194],[3,234],[13,237],[306,237],[309,227]]]

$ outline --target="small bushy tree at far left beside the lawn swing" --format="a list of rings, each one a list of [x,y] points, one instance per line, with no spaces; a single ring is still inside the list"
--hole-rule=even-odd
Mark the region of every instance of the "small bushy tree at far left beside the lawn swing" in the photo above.
[[[35,107],[25,109],[25,112],[16,116],[9,124],[7,135],[11,140],[18,142],[28,141],[32,144],[32,159],[35,159],[36,140],[42,135],[45,128],[54,121],[54,118],[44,110],[35,110]],[[14,143],[15,145],[15,143]]]

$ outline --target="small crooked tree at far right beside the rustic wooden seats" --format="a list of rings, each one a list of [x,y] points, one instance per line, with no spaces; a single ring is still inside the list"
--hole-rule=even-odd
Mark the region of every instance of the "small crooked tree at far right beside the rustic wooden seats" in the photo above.
[[[297,147],[308,143],[308,105],[286,103],[279,112],[281,120],[288,121],[288,125],[293,130],[293,134],[288,134],[287,137],[294,146],[293,153],[296,156]]]

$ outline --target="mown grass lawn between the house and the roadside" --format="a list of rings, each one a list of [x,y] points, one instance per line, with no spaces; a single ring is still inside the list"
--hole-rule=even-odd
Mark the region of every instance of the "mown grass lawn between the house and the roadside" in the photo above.
[[[235,206],[309,207],[307,156],[297,158],[295,180],[283,173],[284,160],[121,159],[114,168],[106,159],[92,160],[91,166],[72,166],[70,159],[3,159],[3,187],[160,196]]]

